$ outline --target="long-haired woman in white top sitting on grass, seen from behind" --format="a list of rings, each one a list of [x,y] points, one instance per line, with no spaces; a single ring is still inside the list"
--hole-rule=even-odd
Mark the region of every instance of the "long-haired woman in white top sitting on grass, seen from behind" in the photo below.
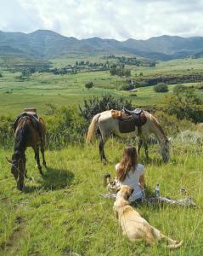
[[[134,147],[124,148],[122,159],[116,165],[117,179],[121,185],[130,186],[133,194],[128,201],[141,201],[144,189],[144,166],[138,164],[138,154]]]

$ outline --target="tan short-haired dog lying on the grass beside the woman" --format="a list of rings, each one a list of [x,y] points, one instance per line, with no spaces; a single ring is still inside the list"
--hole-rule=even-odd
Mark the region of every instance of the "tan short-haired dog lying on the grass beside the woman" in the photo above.
[[[116,195],[114,212],[123,231],[130,241],[146,241],[149,245],[154,245],[157,241],[164,239],[168,241],[167,247],[174,249],[182,245],[183,241],[174,241],[170,237],[164,236],[160,230],[152,227],[144,218],[129,205],[127,199],[133,193],[129,186],[121,186]]]

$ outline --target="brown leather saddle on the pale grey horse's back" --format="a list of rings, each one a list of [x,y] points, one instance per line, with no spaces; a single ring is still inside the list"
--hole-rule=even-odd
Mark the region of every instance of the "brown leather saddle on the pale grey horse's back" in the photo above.
[[[138,127],[138,135],[141,134],[141,127],[146,124],[147,121],[143,109],[140,108],[134,109],[133,111],[123,108],[121,115],[117,119],[121,133],[135,131],[136,127]]]

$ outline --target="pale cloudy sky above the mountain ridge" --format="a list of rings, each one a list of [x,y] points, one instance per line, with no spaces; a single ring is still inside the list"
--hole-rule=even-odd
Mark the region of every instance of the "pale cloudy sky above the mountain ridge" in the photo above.
[[[0,30],[67,37],[203,36],[203,0],[0,0]]]

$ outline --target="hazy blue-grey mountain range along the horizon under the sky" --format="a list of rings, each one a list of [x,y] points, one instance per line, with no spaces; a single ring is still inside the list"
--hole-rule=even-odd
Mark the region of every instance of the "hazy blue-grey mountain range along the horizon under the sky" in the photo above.
[[[203,53],[203,37],[161,36],[148,40],[67,38],[48,30],[31,33],[1,32],[0,56],[50,59],[70,54],[130,54],[153,60],[171,60]]]

